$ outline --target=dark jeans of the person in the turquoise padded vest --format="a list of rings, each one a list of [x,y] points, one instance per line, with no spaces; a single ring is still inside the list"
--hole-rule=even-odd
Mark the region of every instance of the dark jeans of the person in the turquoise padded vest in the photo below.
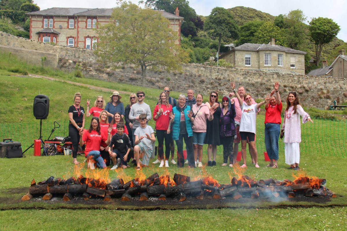
[[[187,150],[187,160],[188,165],[191,168],[195,168],[194,153],[193,153],[193,136],[188,137],[188,134],[179,134],[178,140],[176,140],[177,145],[177,167],[184,167],[184,157],[183,157],[183,139],[186,143]]]

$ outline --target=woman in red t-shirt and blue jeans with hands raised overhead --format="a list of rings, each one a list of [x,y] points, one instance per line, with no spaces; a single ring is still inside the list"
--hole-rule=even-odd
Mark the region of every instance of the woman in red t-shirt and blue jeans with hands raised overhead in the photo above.
[[[270,163],[266,167],[278,168],[278,138],[280,135],[282,102],[278,91],[279,83],[275,82],[270,101],[265,104],[265,148]]]

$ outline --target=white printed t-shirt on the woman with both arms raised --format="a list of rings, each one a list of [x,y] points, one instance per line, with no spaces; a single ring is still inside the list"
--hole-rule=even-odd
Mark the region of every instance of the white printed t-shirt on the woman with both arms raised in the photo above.
[[[240,132],[252,132],[255,134],[255,121],[257,116],[257,105],[242,104]]]

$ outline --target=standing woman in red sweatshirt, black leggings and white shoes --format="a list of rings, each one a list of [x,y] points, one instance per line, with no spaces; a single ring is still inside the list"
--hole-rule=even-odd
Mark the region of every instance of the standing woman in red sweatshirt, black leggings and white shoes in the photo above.
[[[156,138],[158,139],[158,159],[160,158],[159,167],[164,166],[164,150],[163,144],[165,139],[165,167],[169,167],[170,143],[172,135],[167,133],[170,123],[170,113],[172,106],[169,104],[169,96],[166,92],[161,92],[158,99],[158,105],[153,111],[153,119],[155,122]]]

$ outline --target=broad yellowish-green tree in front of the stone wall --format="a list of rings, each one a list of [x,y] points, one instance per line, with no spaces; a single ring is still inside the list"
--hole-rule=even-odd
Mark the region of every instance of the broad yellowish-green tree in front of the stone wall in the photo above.
[[[147,67],[179,70],[180,63],[186,61],[186,53],[176,44],[177,33],[159,12],[123,2],[114,8],[112,19],[112,23],[96,29],[100,42],[95,53],[101,63],[114,68],[128,64],[141,66],[144,79]]]

